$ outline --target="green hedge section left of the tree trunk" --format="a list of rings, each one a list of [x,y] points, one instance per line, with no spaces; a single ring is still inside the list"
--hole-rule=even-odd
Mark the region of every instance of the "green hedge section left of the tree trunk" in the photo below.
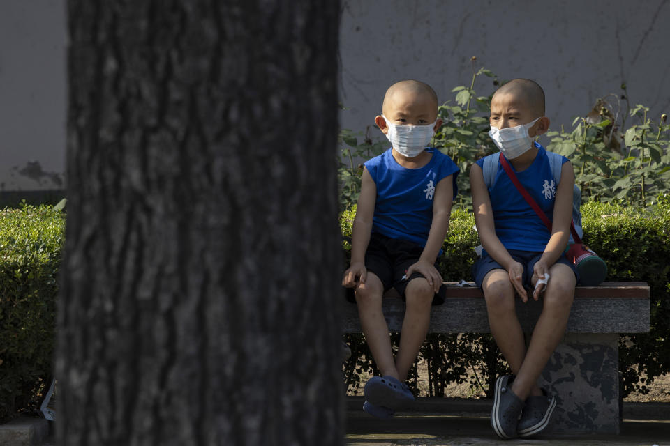
[[[52,374],[64,216],[0,210],[0,422],[38,399]]]

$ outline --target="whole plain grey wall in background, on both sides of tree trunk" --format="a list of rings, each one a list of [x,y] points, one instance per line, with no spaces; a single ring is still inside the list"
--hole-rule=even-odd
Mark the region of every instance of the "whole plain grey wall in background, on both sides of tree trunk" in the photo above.
[[[342,128],[373,125],[399,79],[452,99],[471,56],[501,79],[542,84],[554,128],[622,82],[632,104],[670,112],[670,0],[342,0],[342,10]],[[0,0],[0,191],[61,187],[65,12],[65,0]],[[477,92],[491,93],[479,79]]]

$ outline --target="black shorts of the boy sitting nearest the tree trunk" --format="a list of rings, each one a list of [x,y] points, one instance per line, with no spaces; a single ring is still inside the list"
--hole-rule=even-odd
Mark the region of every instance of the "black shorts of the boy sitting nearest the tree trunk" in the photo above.
[[[384,291],[394,288],[405,300],[405,288],[410,280],[424,277],[420,272],[412,272],[410,277],[405,278],[405,272],[410,266],[417,263],[422,252],[424,248],[421,245],[373,232],[365,252],[365,268],[379,277]],[[435,268],[437,268],[437,263],[435,263]],[[353,293],[348,293],[348,299],[352,300],[352,298]],[[355,298],[353,301],[355,302]],[[443,302],[444,297],[441,293],[433,296],[433,305],[440,305]]]

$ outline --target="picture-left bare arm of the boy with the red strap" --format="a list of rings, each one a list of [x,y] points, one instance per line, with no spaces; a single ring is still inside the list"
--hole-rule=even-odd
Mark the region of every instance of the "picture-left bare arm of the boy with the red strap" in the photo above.
[[[479,240],[482,240],[482,246],[486,252],[500,265],[507,270],[509,280],[514,285],[514,289],[519,293],[521,299],[526,302],[528,294],[523,288],[521,282],[523,275],[523,266],[521,263],[512,259],[505,246],[502,245],[498,236],[496,236],[496,226],[493,222],[493,209],[491,208],[491,198],[489,190],[484,183],[484,174],[478,164],[472,164],[470,167],[470,188],[472,190],[472,210],[475,213],[475,224]]]

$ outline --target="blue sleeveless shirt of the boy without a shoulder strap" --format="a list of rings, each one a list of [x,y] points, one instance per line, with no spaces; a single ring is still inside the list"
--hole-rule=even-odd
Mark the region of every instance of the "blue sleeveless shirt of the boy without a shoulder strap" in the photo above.
[[[433,223],[433,194],[440,180],[453,175],[454,197],[458,192],[459,167],[433,148],[431,160],[419,169],[402,167],[391,149],[365,162],[377,187],[372,231],[390,238],[426,245]]]

